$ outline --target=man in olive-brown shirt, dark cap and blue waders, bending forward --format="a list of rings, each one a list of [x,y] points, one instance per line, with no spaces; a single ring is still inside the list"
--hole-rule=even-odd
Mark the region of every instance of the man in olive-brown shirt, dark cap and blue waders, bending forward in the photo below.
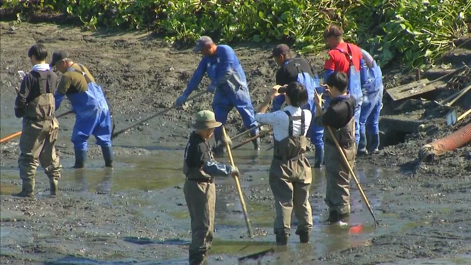
[[[113,167],[111,118],[101,86],[85,66],[69,59],[66,51],[54,52],[50,65],[63,74],[54,94],[55,109],[60,107],[67,96],[76,115],[71,139],[75,150],[74,168],[84,167],[90,134],[95,136],[96,143],[101,146],[105,166]]]

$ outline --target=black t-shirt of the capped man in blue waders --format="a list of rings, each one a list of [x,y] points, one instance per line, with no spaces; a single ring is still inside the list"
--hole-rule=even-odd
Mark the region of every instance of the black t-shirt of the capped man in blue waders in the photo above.
[[[286,85],[290,82],[296,82],[298,81],[299,73],[307,73],[314,76],[308,61],[302,58],[289,59],[276,72],[276,84]]]

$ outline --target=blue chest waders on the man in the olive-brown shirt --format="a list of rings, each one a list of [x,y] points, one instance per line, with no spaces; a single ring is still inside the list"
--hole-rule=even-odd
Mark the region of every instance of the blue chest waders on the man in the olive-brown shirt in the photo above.
[[[92,82],[82,65],[78,66],[81,71],[75,68],[69,68],[68,71],[83,75],[87,81],[87,90],[67,94],[76,114],[71,139],[75,150],[74,168],[83,168],[85,166],[88,149],[87,141],[91,134],[95,136],[96,143],[101,146],[105,167],[112,167],[111,118],[108,104],[101,86]]]

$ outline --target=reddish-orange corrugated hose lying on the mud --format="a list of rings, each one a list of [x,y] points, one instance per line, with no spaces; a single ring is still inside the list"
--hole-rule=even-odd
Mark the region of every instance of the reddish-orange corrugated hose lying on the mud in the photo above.
[[[445,151],[453,151],[471,141],[471,123],[466,124],[456,132],[426,144],[421,147],[419,157],[421,161],[432,162],[435,156]]]

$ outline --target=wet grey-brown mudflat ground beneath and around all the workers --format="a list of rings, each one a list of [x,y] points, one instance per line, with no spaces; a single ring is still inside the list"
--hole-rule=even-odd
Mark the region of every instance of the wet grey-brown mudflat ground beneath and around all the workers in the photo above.
[[[21,130],[21,120],[13,112],[17,71],[30,69],[27,51],[35,42],[43,43],[50,53],[67,49],[75,62],[89,68],[103,85],[116,130],[169,107],[185,89],[200,59],[190,47],[175,48],[145,32],[84,32],[69,26],[2,22],[0,36],[2,137]],[[274,84],[276,66],[266,59],[270,47],[235,46],[254,105]],[[469,49],[460,50],[468,58]],[[322,56],[308,59],[315,70],[321,70]],[[386,87],[412,81],[413,74],[399,70],[384,69]],[[201,87],[208,83],[205,78]],[[446,89],[441,91],[432,96],[449,95]],[[169,111],[115,138],[112,170],[103,167],[93,137],[86,168],[71,169],[70,136],[75,118],[60,118],[57,153],[64,170],[61,194],[56,197],[48,195],[42,170],[36,176],[36,198],[11,196],[21,189],[18,138],[2,144],[1,263],[187,263],[191,234],[183,194],[183,150],[194,113],[211,109],[211,96],[205,94],[182,110]],[[255,237],[247,236],[233,179],[217,179],[216,231],[207,264],[471,263],[469,146],[445,153],[434,163],[416,160],[420,146],[464,126],[470,118],[447,127],[446,110],[432,101],[416,98],[391,107],[386,97],[383,116],[420,120],[424,125],[407,131],[410,128],[399,130],[382,120],[382,139],[388,146],[379,154],[357,158],[355,170],[379,221],[376,229],[353,181],[349,225],[323,223],[328,215],[323,199],[325,175],[323,170],[313,170],[311,243],[300,244],[293,232],[287,248],[275,247],[274,203],[268,185],[272,150],[267,150],[272,138],[266,137],[260,152],[252,150],[251,144],[233,152],[242,172]],[[457,102],[459,114],[468,103],[469,95]],[[57,113],[69,109],[66,101]],[[227,128],[230,135],[244,130],[235,111],[229,114]],[[227,162],[227,157],[220,161]],[[293,227],[296,225],[293,220]]]

